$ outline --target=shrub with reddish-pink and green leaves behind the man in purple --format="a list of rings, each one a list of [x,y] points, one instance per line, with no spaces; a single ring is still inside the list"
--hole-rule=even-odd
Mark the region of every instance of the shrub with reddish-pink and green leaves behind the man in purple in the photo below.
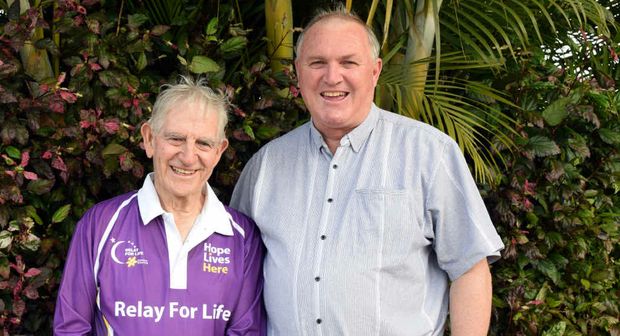
[[[17,6],[19,1],[14,3]],[[18,15],[0,30],[0,327],[50,334],[74,225],[94,203],[139,187],[151,164],[140,124],[163,83],[205,76],[231,103],[231,146],[211,183],[226,201],[242,162],[304,118],[282,92],[291,73],[272,73],[258,40],[231,5],[187,7],[195,21],[158,24],[136,2],[74,0]],[[46,7],[47,6],[47,7]],[[188,15],[188,16],[184,16]],[[19,51],[33,41],[56,64],[36,80]],[[55,39],[59,36],[59,39]]]

